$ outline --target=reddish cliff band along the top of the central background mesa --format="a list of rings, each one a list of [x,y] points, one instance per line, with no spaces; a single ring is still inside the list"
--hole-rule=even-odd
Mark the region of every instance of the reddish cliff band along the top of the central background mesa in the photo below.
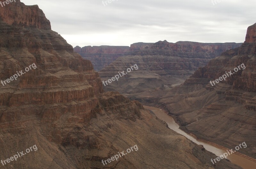
[[[181,58],[209,59],[219,56],[221,53],[241,46],[242,43],[199,43],[179,41],[169,43],[166,40],[143,46],[142,43],[133,44],[133,55],[164,55]],[[134,47],[137,46],[137,47]],[[132,49],[132,47],[131,47]]]

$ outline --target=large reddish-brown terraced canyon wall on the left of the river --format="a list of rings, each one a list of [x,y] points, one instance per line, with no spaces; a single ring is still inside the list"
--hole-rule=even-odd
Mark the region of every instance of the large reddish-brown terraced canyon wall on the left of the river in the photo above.
[[[1,85],[0,159],[38,148],[4,167],[239,168],[226,160],[213,166],[215,155],[166,128],[139,102],[104,93],[91,62],[49,29],[41,10],[33,21],[35,9],[20,1],[0,8],[0,79],[36,65]],[[15,20],[4,22],[7,13]],[[134,145],[138,151],[102,164]]]

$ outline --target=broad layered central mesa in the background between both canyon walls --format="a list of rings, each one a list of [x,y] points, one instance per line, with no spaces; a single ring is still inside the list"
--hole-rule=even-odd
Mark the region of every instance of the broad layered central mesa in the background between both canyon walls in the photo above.
[[[108,80],[137,64],[139,69],[132,71],[104,87],[107,91],[120,93],[140,93],[159,87],[168,87],[184,82],[198,67],[205,66],[212,58],[237,43],[198,43],[166,40],[156,43],[135,43],[131,45],[129,55],[119,57],[100,70],[101,79]]]

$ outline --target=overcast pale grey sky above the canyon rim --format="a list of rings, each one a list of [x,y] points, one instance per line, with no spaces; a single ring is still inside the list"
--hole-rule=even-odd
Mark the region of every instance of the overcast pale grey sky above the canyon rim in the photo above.
[[[256,23],[255,0],[108,1],[21,0],[37,4],[52,30],[73,47],[159,40],[244,42],[247,27]]]

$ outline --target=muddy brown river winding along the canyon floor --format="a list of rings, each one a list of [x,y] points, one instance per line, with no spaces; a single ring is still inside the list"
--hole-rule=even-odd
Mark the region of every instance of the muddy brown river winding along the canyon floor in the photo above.
[[[149,110],[153,111],[159,119],[166,122],[170,129],[176,131],[177,133],[180,133],[181,135],[187,137],[189,140],[193,141],[194,143],[196,143],[198,145],[200,145],[200,144],[203,145],[206,150],[211,151],[215,155],[220,156],[223,153],[227,152],[226,149],[224,150],[219,147],[215,147],[214,145],[208,144],[206,142],[199,141],[196,138],[194,138],[193,136],[184,132],[183,130],[180,130],[179,129],[180,126],[174,121],[174,119],[171,116],[168,116],[162,109],[159,109],[156,107],[145,106],[145,105],[143,105],[143,106],[145,109],[149,109]],[[243,148],[243,146],[242,146],[242,148]],[[233,150],[234,149],[235,149],[235,147],[233,148]],[[234,154],[234,153],[228,155],[227,158],[232,163],[239,165],[239,166],[243,167],[244,169],[256,169],[256,162],[254,162],[248,158],[242,157],[242,156]],[[211,161],[211,159],[209,159],[209,161]]]

